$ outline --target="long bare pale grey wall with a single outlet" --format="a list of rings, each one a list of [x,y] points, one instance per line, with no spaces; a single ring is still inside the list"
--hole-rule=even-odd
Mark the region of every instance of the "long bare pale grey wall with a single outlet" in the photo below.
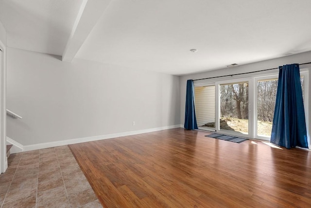
[[[180,124],[179,77],[7,49],[7,136],[22,145]],[[132,125],[132,121],[136,125]]]

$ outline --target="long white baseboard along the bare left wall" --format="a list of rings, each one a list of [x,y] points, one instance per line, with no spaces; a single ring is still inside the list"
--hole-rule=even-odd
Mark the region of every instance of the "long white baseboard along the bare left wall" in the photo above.
[[[180,128],[180,127],[183,128],[183,125],[178,124],[178,125],[172,125],[172,126],[163,126],[163,127],[158,127],[158,128],[143,129],[143,130],[138,130],[138,131],[129,131],[129,132],[107,134],[107,135],[94,136],[94,137],[77,138],[77,139],[67,139],[67,140],[52,141],[52,142],[31,144],[31,145],[21,145],[12,139],[10,139],[10,140],[15,142],[16,144],[18,144],[19,145],[18,148],[20,148],[22,151],[31,151],[31,150],[50,148],[50,147],[58,147],[58,146],[63,146],[63,145],[68,145],[68,144],[77,144],[77,143],[88,142],[88,141],[96,141],[96,140],[101,140],[101,139],[125,137],[125,136],[130,136],[130,135],[143,134],[143,133],[161,131],[161,130],[165,130],[165,129]],[[7,138],[7,139],[9,139],[9,138]],[[14,143],[11,143],[11,144],[15,145]]]

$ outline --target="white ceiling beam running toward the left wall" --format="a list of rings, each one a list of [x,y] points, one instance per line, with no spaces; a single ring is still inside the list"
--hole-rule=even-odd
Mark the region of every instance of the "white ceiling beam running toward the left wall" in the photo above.
[[[111,0],[83,0],[63,52],[62,60],[71,62]]]

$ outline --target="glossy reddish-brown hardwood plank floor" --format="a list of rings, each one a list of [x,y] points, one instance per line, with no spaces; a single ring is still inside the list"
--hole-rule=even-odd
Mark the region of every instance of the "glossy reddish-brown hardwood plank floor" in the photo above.
[[[182,128],[69,145],[103,207],[311,205],[311,152]]]

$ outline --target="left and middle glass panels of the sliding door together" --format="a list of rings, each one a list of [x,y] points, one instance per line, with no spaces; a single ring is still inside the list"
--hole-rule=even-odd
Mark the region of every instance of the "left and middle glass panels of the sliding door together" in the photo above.
[[[196,86],[198,128],[236,136],[248,135],[248,94],[248,80]]]

